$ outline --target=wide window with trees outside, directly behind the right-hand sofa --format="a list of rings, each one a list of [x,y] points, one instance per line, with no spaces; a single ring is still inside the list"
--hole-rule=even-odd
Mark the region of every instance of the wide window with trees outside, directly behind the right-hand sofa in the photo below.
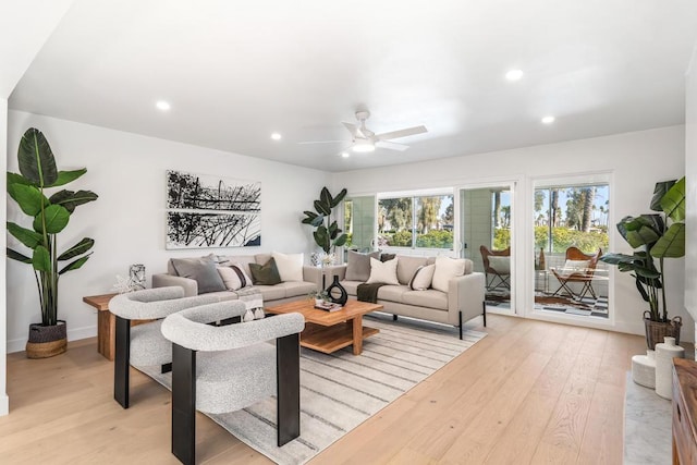
[[[378,200],[378,241],[384,247],[453,248],[453,195],[386,196]]]

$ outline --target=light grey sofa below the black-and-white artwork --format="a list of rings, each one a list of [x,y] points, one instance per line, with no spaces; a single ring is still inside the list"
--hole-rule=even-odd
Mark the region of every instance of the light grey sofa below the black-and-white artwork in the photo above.
[[[271,254],[240,255],[240,256],[221,256],[221,260],[230,260],[243,266],[248,277],[249,264],[264,265],[271,258]],[[286,281],[274,285],[255,285],[255,289],[261,291],[264,296],[264,306],[284,304],[288,302],[301,301],[307,298],[307,295],[321,287],[322,276],[321,269],[317,267],[303,267],[303,281]],[[194,279],[182,278],[176,274],[176,270],[172,266],[172,260],[167,264],[167,273],[152,276],[152,287],[164,287],[170,285],[179,285],[184,287],[185,296],[198,295],[198,283]],[[206,295],[217,295],[221,301],[232,301],[239,298],[235,291],[210,292]]]

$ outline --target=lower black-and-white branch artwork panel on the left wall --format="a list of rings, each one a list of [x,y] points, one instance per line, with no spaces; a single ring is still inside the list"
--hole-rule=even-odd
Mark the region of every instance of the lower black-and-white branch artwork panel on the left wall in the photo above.
[[[167,249],[258,245],[261,245],[258,213],[167,212]]]

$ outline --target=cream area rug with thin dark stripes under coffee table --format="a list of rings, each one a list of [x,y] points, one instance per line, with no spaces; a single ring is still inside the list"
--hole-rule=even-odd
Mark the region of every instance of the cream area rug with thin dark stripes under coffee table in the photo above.
[[[332,355],[301,350],[301,437],[276,445],[276,399],[239,412],[208,415],[242,442],[279,464],[303,464],[428,378],[487,334],[413,320],[365,318],[380,332]],[[441,329],[442,328],[442,329]],[[171,374],[140,368],[171,389]]]

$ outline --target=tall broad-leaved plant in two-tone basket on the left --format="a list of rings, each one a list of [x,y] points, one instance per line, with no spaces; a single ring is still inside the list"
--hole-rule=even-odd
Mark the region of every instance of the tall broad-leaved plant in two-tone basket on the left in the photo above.
[[[11,221],[7,228],[32,253],[24,255],[8,248],[8,257],[34,268],[41,322],[29,326],[26,353],[29,358],[45,358],[65,352],[68,346],[65,321],[58,319],[58,280],[61,274],[85,265],[91,253],[85,254],[95,243],[84,237],[59,253],[58,234],[65,229],[75,208],[96,200],[97,194],[61,189],[47,197],[47,188],[68,184],[87,170],[59,171],[48,140],[34,127],[22,136],[17,161],[20,174],[8,172],[8,194],[32,218],[32,229]],[[59,261],[66,265],[59,269]]]

